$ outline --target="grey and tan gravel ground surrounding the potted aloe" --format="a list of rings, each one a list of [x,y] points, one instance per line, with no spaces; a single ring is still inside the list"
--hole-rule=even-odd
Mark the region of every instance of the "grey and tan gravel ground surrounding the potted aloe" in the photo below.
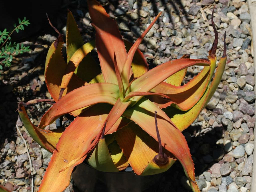
[[[80,2],[80,1],[79,1]],[[79,29],[87,42],[94,38],[90,17],[83,2],[70,5]],[[194,159],[197,183],[201,191],[246,192],[251,188],[252,152],[254,149],[254,64],[251,53],[250,14],[244,0],[189,1],[119,1],[101,3],[118,22],[124,38],[134,41],[156,16],[158,22],[147,34],[141,51],[147,55],[150,68],[191,54],[190,58],[207,58],[214,40],[210,14],[216,4],[214,22],[219,32],[217,59],[223,51],[223,34],[227,33],[228,60],[214,97],[195,122],[183,133]],[[73,7],[72,7],[73,6]],[[78,8],[77,8],[78,7]],[[64,8],[63,8],[64,9]],[[138,11],[139,10],[139,11]],[[65,10],[56,26],[65,32]],[[54,22],[53,22],[54,23]],[[44,61],[53,30],[42,33],[25,44],[32,51],[14,60],[0,77],[0,183],[12,191],[31,191],[30,165],[26,147],[17,134],[22,130],[33,163],[36,188],[41,183],[51,154],[35,143],[18,119],[17,102],[49,98],[44,82]],[[186,83],[201,68],[190,67]],[[37,125],[48,104],[28,107],[31,121]],[[54,126],[54,125],[52,125]],[[189,191],[187,178],[177,162],[162,176],[157,191]],[[37,191],[37,189],[35,189]],[[66,191],[79,191],[71,182]]]

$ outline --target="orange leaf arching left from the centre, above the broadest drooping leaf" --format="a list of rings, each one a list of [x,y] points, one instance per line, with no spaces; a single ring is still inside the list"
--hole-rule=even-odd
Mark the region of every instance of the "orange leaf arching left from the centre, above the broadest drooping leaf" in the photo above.
[[[42,117],[39,128],[55,121],[59,116],[96,103],[114,105],[119,88],[113,83],[95,83],[79,87],[62,97]]]

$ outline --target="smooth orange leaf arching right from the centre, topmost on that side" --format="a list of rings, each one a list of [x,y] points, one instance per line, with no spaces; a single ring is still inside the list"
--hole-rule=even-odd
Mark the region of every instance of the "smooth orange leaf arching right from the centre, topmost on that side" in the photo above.
[[[131,83],[131,91],[150,91],[172,74],[193,65],[209,66],[209,62],[200,59],[176,59],[163,63],[135,79]],[[138,96],[136,100],[140,98]]]

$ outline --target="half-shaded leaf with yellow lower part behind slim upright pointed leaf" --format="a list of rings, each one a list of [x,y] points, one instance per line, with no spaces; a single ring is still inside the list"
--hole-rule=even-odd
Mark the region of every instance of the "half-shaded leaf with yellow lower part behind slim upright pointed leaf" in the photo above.
[[[130,50],[133,44],[124,40],[124,45],[127,50]],[[147,60],[139,49],[136,50],[133,56],[131,67],[134,78],[138,78],[148,71]]]

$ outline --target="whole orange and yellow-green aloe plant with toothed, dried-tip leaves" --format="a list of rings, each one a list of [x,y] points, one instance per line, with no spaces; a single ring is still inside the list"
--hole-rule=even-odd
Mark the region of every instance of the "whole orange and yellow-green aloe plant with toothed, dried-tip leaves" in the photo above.
[[[20,117],[30,135],[53,153],[39,191],[65,190],[73,168],[84,160],[101,171],[120,171],[130,165],[137,175],[151,175],[166,171],[178,159],[192,190],[198,192],[194,163],[181,131],[197,118],[217,89],[227,58],[226,33],[213,80],[218,43],[213,20],[215,40],[209,60],[185,55],[149,70],[138,46],[161,13],[131,46],[97,1],[88,0],[88,7],[96,39],[84,44],[69,11],[67,63],[61,55],[63,35],[54,28],[59,36],[46,57],[45,81],[56,103],[37,127],[25,107],[38,100],[19,103]],[[100,67],[89,54],[95,47]],[[204,69],[180,86],[186,68],[193,65]],[[65,131],[44,130],[67,113],[76,118]]]

